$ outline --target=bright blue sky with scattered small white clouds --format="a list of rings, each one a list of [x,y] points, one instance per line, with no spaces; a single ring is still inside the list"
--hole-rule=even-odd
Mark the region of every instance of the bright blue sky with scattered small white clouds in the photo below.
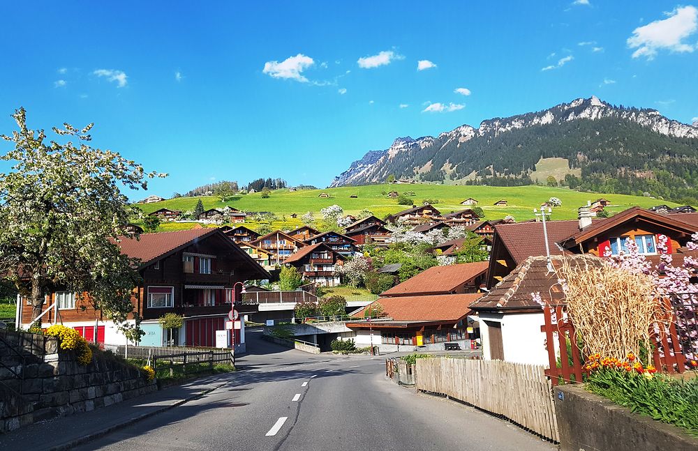
[[[94,122],[94,144],[170,174],[165,197],[325,186],[395,137],[591,95],[698,116],[698,3],[68,5],[4,6],[0,131],[20,106],[34,128]]]

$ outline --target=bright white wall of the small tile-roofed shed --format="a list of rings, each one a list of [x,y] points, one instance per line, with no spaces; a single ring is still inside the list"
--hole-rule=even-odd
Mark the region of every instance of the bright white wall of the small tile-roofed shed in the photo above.
[[[480,313],[480,335],[482,337],[482,358],[489,360],[489,326],[485,321],[502,324],[504,360],[507,362],[548,365],[548,352],[545,349],[545,334],[540,326],[545,323],[543,313]]]

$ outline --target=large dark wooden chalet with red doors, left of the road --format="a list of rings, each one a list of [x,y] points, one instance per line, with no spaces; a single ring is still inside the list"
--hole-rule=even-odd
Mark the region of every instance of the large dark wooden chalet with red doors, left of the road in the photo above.
[[[118,245],[123,254],[140,261],[142,281],[134,287],[131,300],[135,314],[143,319],[143,345],[214,346],[216,330],[225,330],[232,299],[240,300],[242,286],[236,283],[270,277],[219,229],[142,234],[138,239],[124,236]],[[95,342],[124,344],[124,335],[91,307],[87,296],[54,288],[47,294],[42,327],[63,323]],[[20,307],[17,320],[26,327],[31,305],[21,302]],[[239,312],[252,313],[256,308],[240,305]],[[170,312],[183,315],[184,326],[168,336],[158,319]],[[128,322],[133,324],[135,319],[129,316]],[[244,326],[235,332],[236,343],[244,342]]]

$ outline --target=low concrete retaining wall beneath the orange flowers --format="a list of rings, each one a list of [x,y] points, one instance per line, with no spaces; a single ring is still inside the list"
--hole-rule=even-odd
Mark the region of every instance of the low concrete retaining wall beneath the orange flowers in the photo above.
[[[695,451],[698,438],[652,418],[632,413],[582,385],[555,388],[560,451]]]

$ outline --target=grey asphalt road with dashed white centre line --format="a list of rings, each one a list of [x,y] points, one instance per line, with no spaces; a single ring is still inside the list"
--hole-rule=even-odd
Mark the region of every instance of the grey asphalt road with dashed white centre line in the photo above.
[[[473,408],[401,388],[383,358],[262,342],[208,395],[79,450],[556,450]]]

